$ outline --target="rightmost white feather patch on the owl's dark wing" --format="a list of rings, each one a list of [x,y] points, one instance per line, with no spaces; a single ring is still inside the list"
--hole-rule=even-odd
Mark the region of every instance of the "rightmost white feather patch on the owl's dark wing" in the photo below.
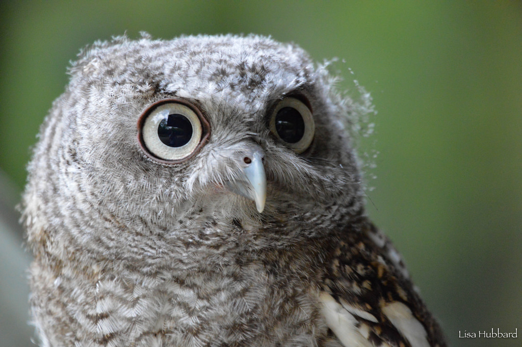
[[[402,337],[408,340],[412,346],[430,347],[426,330],[417,318],[413,317],[408,306],[400,302],[394,302],[384,305],[382,310]]]

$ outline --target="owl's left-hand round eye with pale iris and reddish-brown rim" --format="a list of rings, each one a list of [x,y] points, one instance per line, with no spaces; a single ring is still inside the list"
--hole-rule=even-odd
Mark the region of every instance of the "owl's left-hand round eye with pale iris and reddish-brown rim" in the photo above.
[[[201,112],[186,101],[165,99],[153,103],[138,119],[138,141],[149,157],[163,163],[191,158],[209,135]]]

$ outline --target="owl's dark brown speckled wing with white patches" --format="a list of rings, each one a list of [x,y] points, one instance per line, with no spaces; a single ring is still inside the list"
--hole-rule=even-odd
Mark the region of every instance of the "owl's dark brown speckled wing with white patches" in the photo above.
[[[445,347],[388,238],[364,217],[338,237],[319,295],[338,341],[345,347]]]

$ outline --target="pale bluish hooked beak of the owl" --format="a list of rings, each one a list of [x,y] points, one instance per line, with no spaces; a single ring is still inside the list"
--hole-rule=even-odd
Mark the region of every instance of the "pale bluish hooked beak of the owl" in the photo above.
[[[232,193],[239,194],[247,199],[254,200],[259,213],[265,209],[266,175],[263,166],[263,151],[254,147],[244,151],[241,160],[241,169],[234,181],[228,182]]]

